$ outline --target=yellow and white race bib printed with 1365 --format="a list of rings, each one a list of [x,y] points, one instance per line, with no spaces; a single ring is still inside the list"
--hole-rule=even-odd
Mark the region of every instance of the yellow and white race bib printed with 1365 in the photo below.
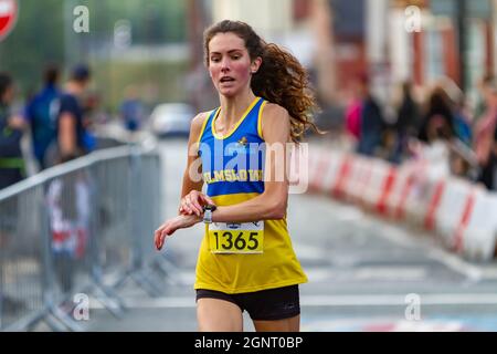
[[[209,246],[213,253],[263,253],[264,221],[210,223]]]

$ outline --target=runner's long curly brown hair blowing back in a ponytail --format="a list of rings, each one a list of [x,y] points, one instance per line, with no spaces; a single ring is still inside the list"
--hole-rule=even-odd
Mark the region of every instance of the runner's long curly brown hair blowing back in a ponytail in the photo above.
[[[215,34],[228,32],[244,40],[251,60],[262,58],[260,70],[252,76],[252,91],[256,96],[288,111],[292,140],[299,142],[309,127],[320,133],[311,119],[317,104],[306,70],[289,52],[263,41],[248,24],[224,20],[207,29],[203,35],[207,65],[210,41]]]

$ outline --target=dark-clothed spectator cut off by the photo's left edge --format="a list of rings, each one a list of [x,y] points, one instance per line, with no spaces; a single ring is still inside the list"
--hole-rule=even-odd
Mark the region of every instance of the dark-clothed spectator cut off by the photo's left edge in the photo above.
[[[0,189],[13,185],[25,176],[21,150],[24,121],[12,116],[10,105],[14,98],[12,77],[0,73]]]

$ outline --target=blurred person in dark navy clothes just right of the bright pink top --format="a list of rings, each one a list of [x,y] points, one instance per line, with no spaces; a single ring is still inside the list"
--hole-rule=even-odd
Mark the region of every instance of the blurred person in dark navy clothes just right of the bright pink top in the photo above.
[[[362,110],[358,153],[373,156],[381,145],[384,119],[380,105],[370,92],[369,80],[366,75],[359,80],[359,93],[362,100]]]

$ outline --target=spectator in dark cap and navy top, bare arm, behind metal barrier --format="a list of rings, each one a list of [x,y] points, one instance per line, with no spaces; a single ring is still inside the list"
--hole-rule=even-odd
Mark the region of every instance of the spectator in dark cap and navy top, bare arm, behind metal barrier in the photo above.
[[[66,156],[82,156],[91,150],[87,144],[87,132],[84,126],[83,94],[91,79],[85,65],[76,66],[65,85],[61,96],[61,107],[57,116],[57,140],[52,162],[65,159]]]

